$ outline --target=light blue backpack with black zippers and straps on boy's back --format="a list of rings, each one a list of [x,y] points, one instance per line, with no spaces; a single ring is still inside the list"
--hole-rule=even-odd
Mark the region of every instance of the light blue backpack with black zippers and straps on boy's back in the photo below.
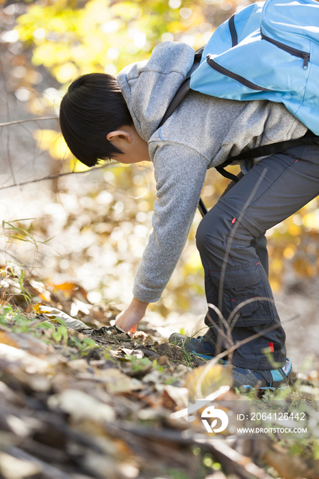
[[[191,90],[218,98],[283,103],[308,131],[303,138],[259,146],[232,161],[273,155],[319,137],[319,3],[315,0],[267,0],[253,3],[222,23],[195,55],[199,67],[179,88],[161,127]],[[207,212],[202,200],[202,216]]]

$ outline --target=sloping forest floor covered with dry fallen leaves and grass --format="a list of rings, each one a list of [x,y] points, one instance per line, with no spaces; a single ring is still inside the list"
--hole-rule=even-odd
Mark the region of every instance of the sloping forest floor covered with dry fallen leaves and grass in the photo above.
[[[0,477],[319,477],[318,371],[294,375],[281,394],[242,396],[229,367],[195,361],[146,321],[120,331],[118,311],[90,305],[78,285],[49,296],[44,286],[12,274],[2,290]],[[68,314],[74,301],[85,305],[81,319]],[[201,420],[212,402],[229,417],[220,433]],[[239,435],[233,419],[252,407],[266,413],[255,426],[268,429]],[[268,432],[274,417],[275,426],[296,426],[296,413],[307,433]]]

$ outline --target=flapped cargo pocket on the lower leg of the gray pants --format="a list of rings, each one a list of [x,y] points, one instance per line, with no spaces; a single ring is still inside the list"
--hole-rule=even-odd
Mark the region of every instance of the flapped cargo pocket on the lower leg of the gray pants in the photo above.
[[[212,283],[219,289],[220,270],[209,272]],[[262,266],[251,263],[246,268],[227,268],[222,290],[222,314],[228,320],[233,310],[242,302],[251,298],[266,297],[272,300],[270,288],[267,287],[263,276],[266,276]],[[255,326],[275,319],[272,302],[255,300],[238,309],[238,319],[234,326]]]

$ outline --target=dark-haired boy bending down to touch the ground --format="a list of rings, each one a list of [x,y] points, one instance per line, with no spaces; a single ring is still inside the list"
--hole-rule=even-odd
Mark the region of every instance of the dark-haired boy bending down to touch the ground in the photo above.
[[[150,60],[127,66],[117,79],[79,77],[62,100],[62,134],[84,164],[110,157],[125,164],[154,164],[153,230],[136,272],[131,305],[116,318],[125,331],[138,324],[149,302],[157,301],[166,287],[186,243],[207,168],[244,148],[301,138],[307,131],[280,103],[231,101],[194,91],[157,129],[179,86],[197,66],[187,44],[164,42]],[[243,161],[240,181],[199,225],[196,242],[205,294],[213,305],[205,318],[209,329],[201,338],[175,337],[190,352],[214,357],[227,348],[222,335],[227,325],[214,307],[219,305],[227,320],[242,301],[251,300],[239,307],[231,324],[233,342],[253,337],[235,350],[231,361],[234,385],[242,391],[288,383],[291,363],[271,299],[264,233],[318,195],[318,166],[318,146],[290,148],[260,159],[249,170]],[[264,348],[273,351],[278,369],[272,369]]]

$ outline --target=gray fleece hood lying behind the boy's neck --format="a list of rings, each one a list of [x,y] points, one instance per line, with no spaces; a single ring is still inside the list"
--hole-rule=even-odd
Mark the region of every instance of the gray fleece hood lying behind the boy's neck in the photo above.
[[[149,141],[194,62],[186,43],[158,44],[149,60],[133,63],[118,73],[120,90],[143,140]]]

